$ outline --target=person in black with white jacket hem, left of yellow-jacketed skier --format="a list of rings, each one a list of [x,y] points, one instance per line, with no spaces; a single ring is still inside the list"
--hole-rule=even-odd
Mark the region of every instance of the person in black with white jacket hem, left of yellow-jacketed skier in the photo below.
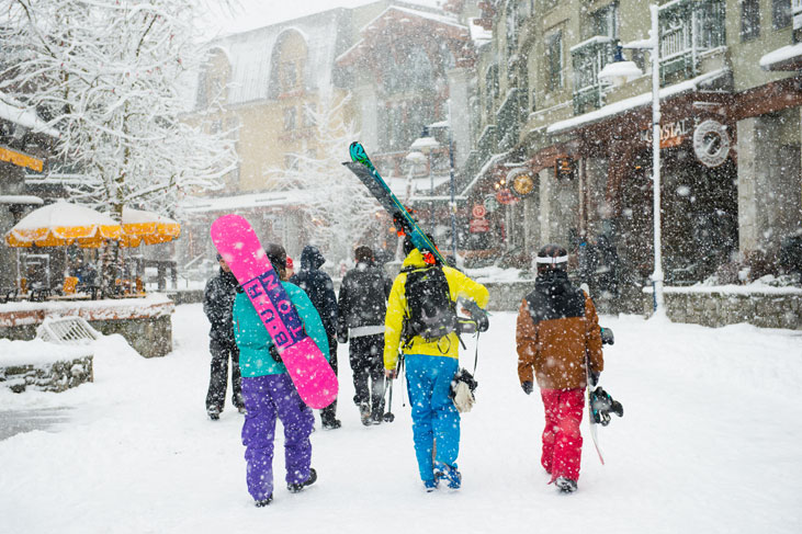
[[[362,424],[379,424],[384,416],[384,314],[393,281],[375,265],[370,247],[358,247],[355,257],[357,266],[340,286],[337,340],[347,343],[350,334],[353,401]]]

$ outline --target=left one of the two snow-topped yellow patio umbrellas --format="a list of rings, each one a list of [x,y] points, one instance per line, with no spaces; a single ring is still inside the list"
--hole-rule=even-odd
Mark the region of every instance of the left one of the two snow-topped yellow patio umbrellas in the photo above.
[[[122,232],[122,226],[108,215],[59,201],[23,217],[5,232],[5,242],[9,247],[100,247]]]

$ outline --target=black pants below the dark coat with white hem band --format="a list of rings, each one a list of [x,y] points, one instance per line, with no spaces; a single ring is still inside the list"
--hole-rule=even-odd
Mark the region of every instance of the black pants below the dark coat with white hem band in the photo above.
[[[354,404],[368,404],[373,414],[384,413],[384,334],[351,338],[349,360]]]

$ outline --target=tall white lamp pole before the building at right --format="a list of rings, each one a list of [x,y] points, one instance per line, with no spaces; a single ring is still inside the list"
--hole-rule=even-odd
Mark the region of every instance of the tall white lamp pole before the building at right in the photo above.
[[[652,12],[652,178],[654,197],[654,310],[662,310],[663,299],[663,251],[660,249],[660,60],[659,22],[657,5],[649,5]]]

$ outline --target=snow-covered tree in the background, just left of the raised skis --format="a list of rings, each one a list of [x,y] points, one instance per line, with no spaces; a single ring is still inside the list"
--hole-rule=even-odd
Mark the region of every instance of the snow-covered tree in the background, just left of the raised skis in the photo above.
[[[348,120],[349,102],[350,96],[331,95],[317,106],[306,106],[313,140],[290,155],[291,168],[269,171],[284,189],[297,190],[310,221],[312,241],[329,249],[337,260],[351,258],[357,245],[375,245],[365,239],[387,223],[379,202],[342,166],[349,159],[348,147],[359,138]]]

